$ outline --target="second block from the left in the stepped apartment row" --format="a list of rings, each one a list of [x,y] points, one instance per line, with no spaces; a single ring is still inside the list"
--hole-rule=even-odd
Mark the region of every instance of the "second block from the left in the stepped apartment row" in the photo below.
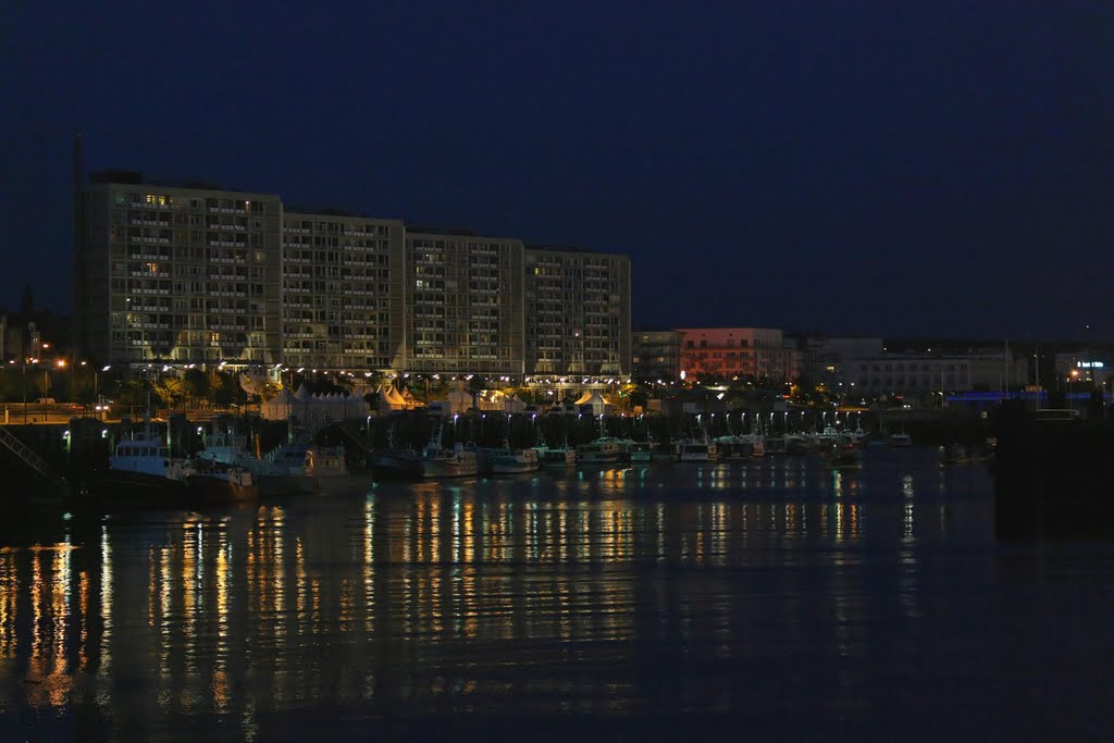
[[[285,364],[343,371],[404,365],[404,241],[398,219],[283,215]]]

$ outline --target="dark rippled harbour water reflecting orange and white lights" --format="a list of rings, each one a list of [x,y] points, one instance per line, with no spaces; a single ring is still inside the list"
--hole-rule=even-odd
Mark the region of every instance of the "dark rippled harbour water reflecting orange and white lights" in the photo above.
[[[929,450],[8,518],[0,739],[1110,740],[1112,577]]]

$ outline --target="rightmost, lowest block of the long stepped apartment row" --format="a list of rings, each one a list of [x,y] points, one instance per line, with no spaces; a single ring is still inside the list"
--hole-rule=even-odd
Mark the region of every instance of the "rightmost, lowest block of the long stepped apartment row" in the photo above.
[[[529,246],[525,261],[527,374],[629,377],[631,258]]]

